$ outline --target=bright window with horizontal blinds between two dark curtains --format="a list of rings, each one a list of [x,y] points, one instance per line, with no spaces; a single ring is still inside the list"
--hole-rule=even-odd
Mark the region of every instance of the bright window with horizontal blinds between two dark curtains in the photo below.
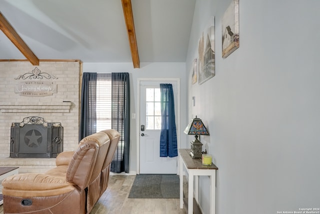
[[[96,131],[111,128],[111,74],[96,78]]]

